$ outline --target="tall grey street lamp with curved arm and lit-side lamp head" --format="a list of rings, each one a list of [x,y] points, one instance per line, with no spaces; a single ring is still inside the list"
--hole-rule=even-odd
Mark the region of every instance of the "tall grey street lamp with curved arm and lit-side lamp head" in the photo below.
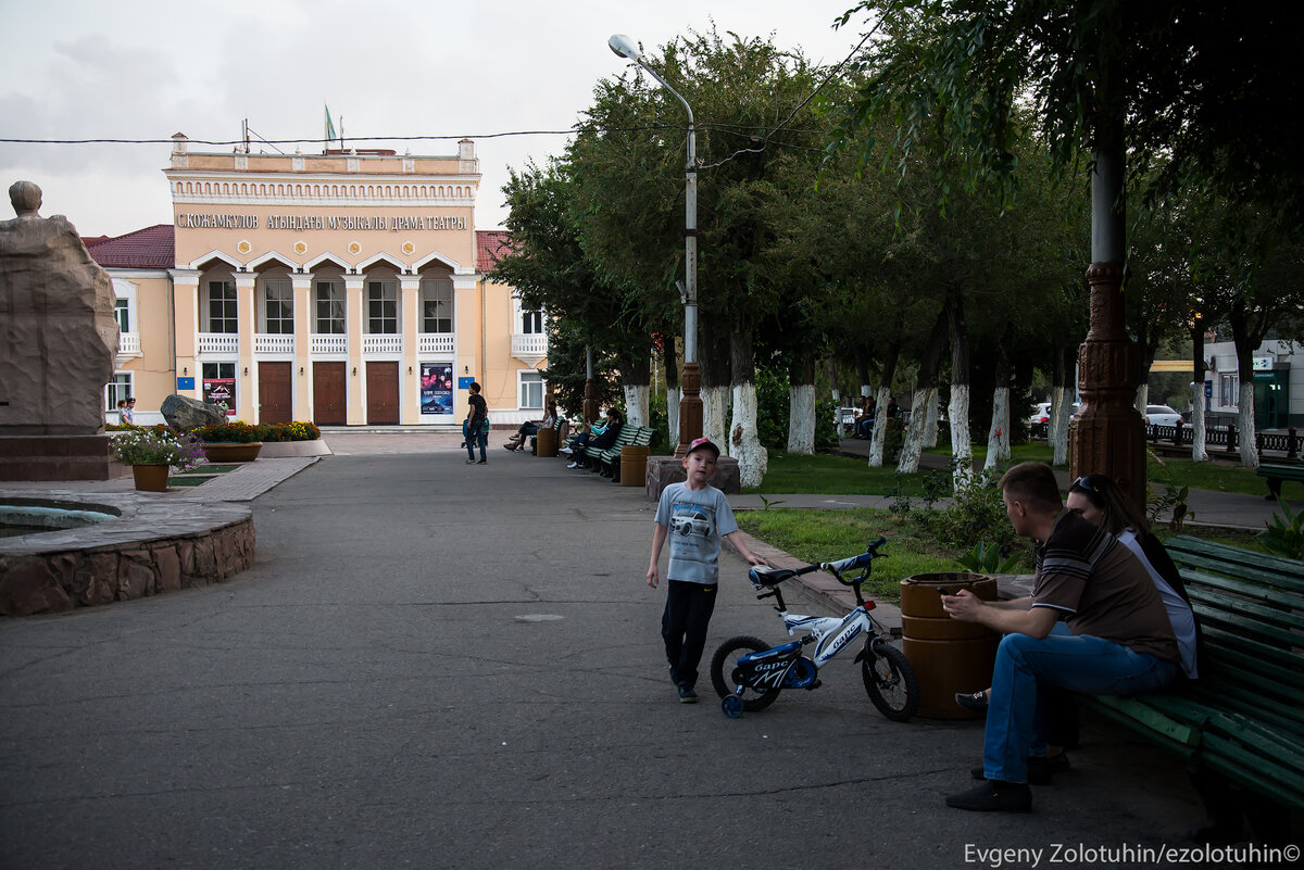
[[[647,70],[648,76],[661,83],[683,103],[689,113],[689,161],[683,169],[683,372],[679,376],[679,445],[674,455],[683,457],[689,444],[702,436],[702,371],[698,367],[698,138],[692,126],[692,107],[679,91],[643,63],[643,56],[632,39],[615,34],[606,44],[619,57],[632,60]]]

